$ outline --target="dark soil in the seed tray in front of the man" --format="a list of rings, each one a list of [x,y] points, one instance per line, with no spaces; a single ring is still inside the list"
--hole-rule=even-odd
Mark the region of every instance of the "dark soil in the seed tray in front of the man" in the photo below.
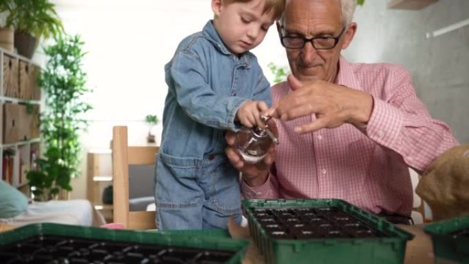
[[[385,237],[335,207],[252,208],[254,217],[274,239]]]

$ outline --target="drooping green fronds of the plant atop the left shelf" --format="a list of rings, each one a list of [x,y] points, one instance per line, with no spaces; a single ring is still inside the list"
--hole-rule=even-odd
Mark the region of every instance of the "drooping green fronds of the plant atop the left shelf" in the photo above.
[[[49,0],[0,0],[0,7],[7,8],[6,27],[15,32],[28,34],[39,39],[64,34],[62,21]]]

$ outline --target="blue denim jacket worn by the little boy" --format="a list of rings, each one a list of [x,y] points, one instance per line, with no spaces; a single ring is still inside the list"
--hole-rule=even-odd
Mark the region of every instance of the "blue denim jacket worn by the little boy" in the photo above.
[[[182,40],[165,65],[165,79],[160,158],[169,163],[191,158],[185,160],[191,166],[209,154],[224,154],[224,131],[241,127],[234,122],[239,107],[248,100],[272,104],[256,56],[248,51],[238,57],[228,51],[212,21]]]

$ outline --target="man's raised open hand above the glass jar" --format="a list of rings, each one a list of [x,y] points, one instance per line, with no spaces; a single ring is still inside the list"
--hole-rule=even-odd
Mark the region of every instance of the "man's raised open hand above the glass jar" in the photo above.
[[[289,75],[287,81],[293,92],[278,101],[267,114],[282,120],[316,115],[315,121],[296,127],[296,132],[336,128],[344,123],[359,126],[370,120],[373,98],[368,93],[319,79],[300,82],[293,75]]]

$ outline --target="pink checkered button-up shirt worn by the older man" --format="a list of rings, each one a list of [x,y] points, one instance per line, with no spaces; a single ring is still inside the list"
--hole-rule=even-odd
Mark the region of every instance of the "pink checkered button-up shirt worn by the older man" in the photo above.
[[[260,187],[241,184],[247,199],[339,198],[374,213],[410,215],[413,191],[408,167],[417,171],[457,145],[450,128],[432,119],[417,98],[409,73],[395,64],[339,61],[337,84],[370,93],[368,125],[298,134],[314,115],[277,121],[276,173]],[[286,82],[272,87],[274,101],[289,93]]]

